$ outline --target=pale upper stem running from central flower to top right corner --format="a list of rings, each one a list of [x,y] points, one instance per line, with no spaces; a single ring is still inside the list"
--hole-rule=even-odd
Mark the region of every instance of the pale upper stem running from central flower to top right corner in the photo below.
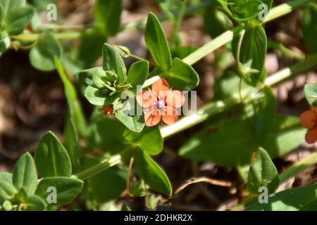
[[[275,6],[274,8],[271,9],[271,11],[269,11],[263,23],[268,23],[271,20],[275,20],[276,18],[280,18],[283,15],[287,15],[288,13],[291,13],[294,9],[302,7],[305,4],[309,3],[310,1],[312,0],[294,0],[285,4],[280,4],[280,6]],[[194,63],[197,63],[197,61],[201,60],[201,58],[204,58],[209,53],[212,53],[216,49],[232,41],[232,39],[234,37],[237,37],[237,35],[240,35],[240,32],[242,29],[243,29],[242,25],[239,25],[233,28],[232,30],[228,30],[224,32],[223,34],[220,34],[218,37],[209,41],[207,44],[205,44],[204,46],[201,46],[201,48],[197,49],[192,54],[184,58],[183,61],[185,63],[188,63],[189,65],[193,65]],[[151,77],[151,82],[154,83],[159,78],[160,78],[159,76]],[[151,86],[151,84],[153,84],[151,82],[145,82],[144,88],[146,88],[147,86]]]

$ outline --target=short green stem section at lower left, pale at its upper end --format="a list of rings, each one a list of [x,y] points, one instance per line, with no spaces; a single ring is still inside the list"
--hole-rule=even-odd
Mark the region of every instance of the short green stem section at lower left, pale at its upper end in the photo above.
[[[79,172],[78,174],[75,174],[74,176],[77,179],[85,180],[85,179],[88,179],[89,177],[99,174],[105,169],[108,169],[110,167],[113,167],[114,165],[117,165],[120,162],[122,162],[122,156],[113,155],[110,159],[104,160],[103,162],[100,162],[97,165],[94,165],[88,169],[85,169],[84,171]]]

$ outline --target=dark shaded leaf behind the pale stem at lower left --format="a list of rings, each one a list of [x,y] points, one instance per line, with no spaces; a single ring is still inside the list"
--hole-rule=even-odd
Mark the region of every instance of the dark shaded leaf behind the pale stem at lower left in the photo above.
[[[84,159],[84,168],[89,168],[99,163],[93,158]],[[96,203],[105,203],[116,200],[125,191],[125,179],[120,175],[120,169],[112,167],[87,179],[87,190],[90,198]]]

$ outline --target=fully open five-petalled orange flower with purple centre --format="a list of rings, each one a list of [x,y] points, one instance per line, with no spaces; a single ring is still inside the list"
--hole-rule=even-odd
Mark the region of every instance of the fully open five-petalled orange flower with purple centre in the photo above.
[[[144,122],[148,127],[155,126],[161,121],[174,124],[178,120],[176,108],[185,103],[181,91],[172,91],[165,79],[159,79],[152,85],[152,90],[139,91],[137,102],[144,109]]]

